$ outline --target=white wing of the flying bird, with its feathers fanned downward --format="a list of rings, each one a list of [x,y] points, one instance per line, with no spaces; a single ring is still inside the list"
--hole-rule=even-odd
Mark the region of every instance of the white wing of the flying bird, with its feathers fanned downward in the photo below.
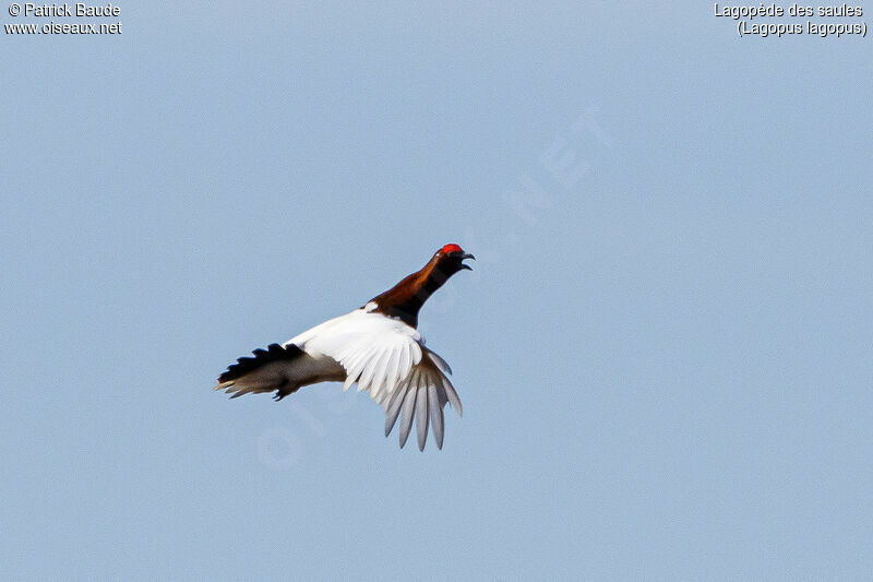
[[[326,321],[300,335],[295,344],[310,356],[330,356],[346,370],[344,390],[357,382],[385,412],[385,436],[400,416],[400,447],[406,443],[415,412],[419,449],[424,448],[428,419],[436,446],[442,448],[446,402],[462,413],[461,401],[446,377],[449,365],[424,347],[424,338],[398,319],[366,306]]]

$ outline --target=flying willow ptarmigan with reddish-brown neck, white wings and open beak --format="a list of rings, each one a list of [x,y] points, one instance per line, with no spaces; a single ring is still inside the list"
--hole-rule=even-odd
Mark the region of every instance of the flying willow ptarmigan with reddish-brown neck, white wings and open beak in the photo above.
[[[443,407],[452,404],[463,414],[443,358],[424,347],[418,328],[418,311],[449,277],[463,270],[465,259],[475,259],[457,245],[438,250],[420,271],[405,277],[363,307],[315,325],[284,344],[271,344],[241,357],[218,377],[215,390],[232,393],[276,392],[280,401],[301,387],[319,382],[344,382],[343,390],[358,383],[385,412],[385,436],[400,419],[400,448],[406,444],[412,419],[418,448],[424,450],[430,424],[436,448],[443,448]]]

